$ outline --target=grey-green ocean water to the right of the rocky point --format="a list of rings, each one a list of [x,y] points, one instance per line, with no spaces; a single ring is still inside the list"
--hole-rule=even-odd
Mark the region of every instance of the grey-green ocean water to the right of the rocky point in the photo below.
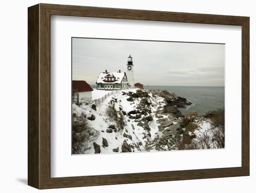
[[[179,108],[182,115],[194,110],[198,115],[203,115],[210,110],[224,108],[224,87],[206,86],[144,86],[144,89],[164,89],[185,97],[193,103],[186,109]]]

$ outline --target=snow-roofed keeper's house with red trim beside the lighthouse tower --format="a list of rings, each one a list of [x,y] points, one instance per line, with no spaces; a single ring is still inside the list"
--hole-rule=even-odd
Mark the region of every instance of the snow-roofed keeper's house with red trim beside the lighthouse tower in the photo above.
[[[129,84],[125,72],[101,72],[97,79],[97,90],[127,89]]]

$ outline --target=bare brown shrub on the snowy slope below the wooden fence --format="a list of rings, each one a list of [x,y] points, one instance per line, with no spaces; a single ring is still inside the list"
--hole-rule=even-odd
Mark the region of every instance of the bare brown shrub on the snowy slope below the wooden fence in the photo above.
[[[124,129],[125,122],[124,116],[121,111],[117,111],[115,109],[115,103],[110,104],[106,109],[106,115],[109,117],[110,120],[114,121],[118,130]]]

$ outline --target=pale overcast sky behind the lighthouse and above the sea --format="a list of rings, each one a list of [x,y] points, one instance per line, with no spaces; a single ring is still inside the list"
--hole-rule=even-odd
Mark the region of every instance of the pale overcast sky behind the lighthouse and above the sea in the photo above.
[[[73,80],[95,84],[100,72],[126,71],[144,85],[224,86],[225,45],[113,39],[72,39]]]

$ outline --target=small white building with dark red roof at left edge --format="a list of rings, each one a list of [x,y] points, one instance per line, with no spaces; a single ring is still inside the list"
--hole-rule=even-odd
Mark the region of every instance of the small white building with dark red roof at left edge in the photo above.
[[[92,97],[92,87],[83,80],[72,80],[72,90],[78,92],[80,99]]]

